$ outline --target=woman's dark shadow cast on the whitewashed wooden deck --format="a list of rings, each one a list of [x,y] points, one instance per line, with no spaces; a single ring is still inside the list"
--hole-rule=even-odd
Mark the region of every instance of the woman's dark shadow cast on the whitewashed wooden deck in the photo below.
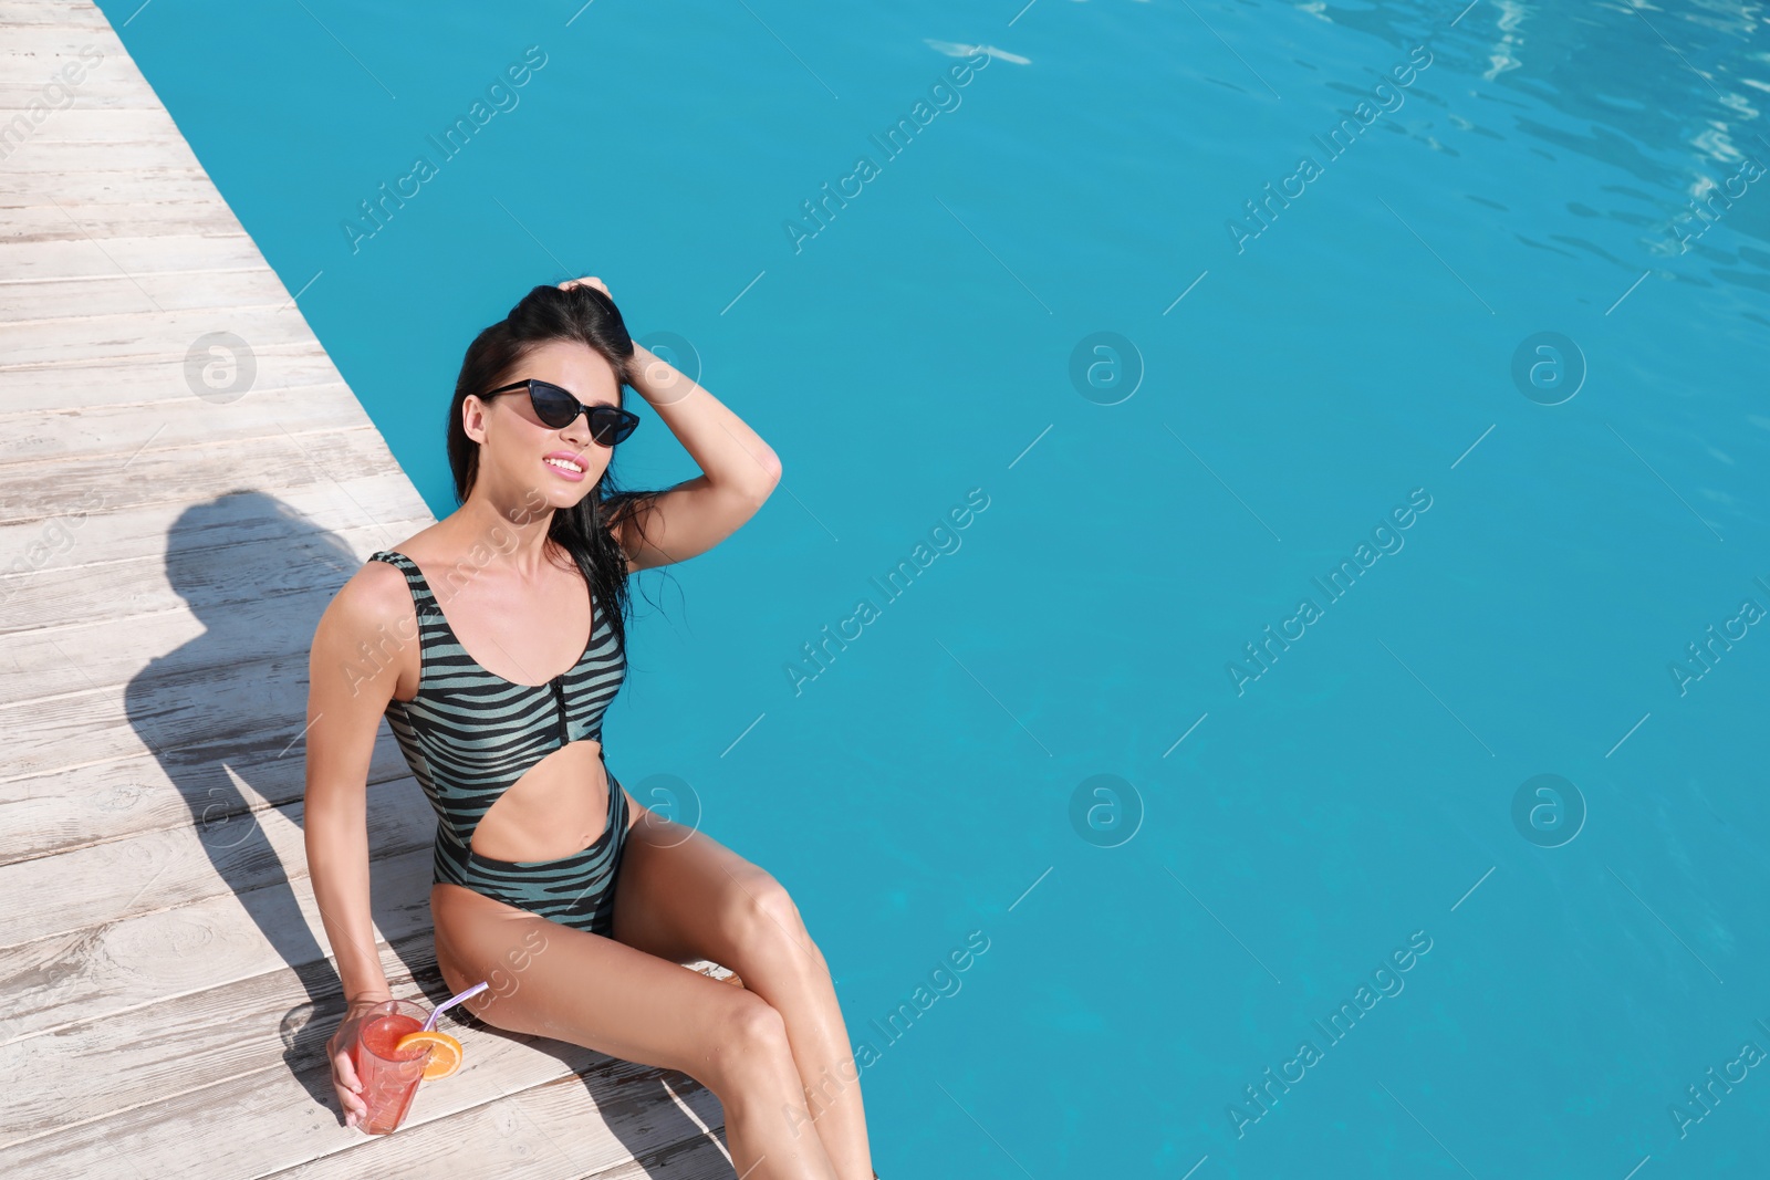
[[[290,830],[304,819],[313,630],[361,564],[336,534],[273,495],[228,492],[193,504],[166,536],[166,580],[204,632],[154,656],[124,690],[129,724],[191,808],[216,874],[296,975],[304,998],[283,1012],[283,1060],[313,1100],[335,1115],[340,1111],[326,1040],[345,1012],[343,989],[290,886],[290,870],[306,872],[304,849],[289,831],[273,840],[260,816],[276,810],[281,817],[269,823]],[[388,985],[395,996],[419,989],[435,1007],[448,1000],[430,925],[435,814],[409,780],[386,722],[368,780],[372,918],[377,932],[393,932],[388,948],[400,968],[388,969]],[[421,865],[423,885],[416,890],[400,870],[411,867],[409,854]],[[280,982],[274,987],[281,991]],[[281,1007],[285,1000],[280,994],[273,1003]],[[508,1035],[466,1007],[450,1008],[450,1017]],[[520,1040],[572,1065],[556,1042]],[[699,1129],[683,1122],[681,1138],[692,1138]],[[634,1153],[655,1148],[653,1141]]]

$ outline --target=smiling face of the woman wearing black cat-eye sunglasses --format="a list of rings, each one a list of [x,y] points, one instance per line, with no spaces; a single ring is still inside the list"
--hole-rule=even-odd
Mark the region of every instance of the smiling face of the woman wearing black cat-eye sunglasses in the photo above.
[[[621,403],[614,370],[600,352],[582,343],[550,340],[538,345],[492,387],[529,377],[568,389],[586,405]],[[464,414],[467,437],[481,444],[476,490],[483,487],[497,501],[570,508],[596,487],[614,455],[612,448],[591,439],[584,414],[565,426],[549,426],[535,416],[522,389],[501,393],[490,402],[469,396]]]

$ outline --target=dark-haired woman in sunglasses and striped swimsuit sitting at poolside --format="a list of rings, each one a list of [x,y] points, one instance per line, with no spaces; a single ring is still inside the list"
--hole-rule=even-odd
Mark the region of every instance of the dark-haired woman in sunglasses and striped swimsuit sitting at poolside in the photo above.
[[[639,421],[623,386],[704,474],[614,492],[612,448]],[[657,819],[602,761],[627,575],[731,536],[781,462],[634,345],[596,278],[536,287],[480,333],[448,456],[460,508],[373,554],[327,605],[308,667],[306,853],[349,1001],[327,1044],[345,1122],[365,1111],[354,1019],[389,998],[366,831],[386,715],[439,819],[442,980],[492,984],[467,1001],[474,1015],[689,1074],[724,1106],[747,1180],[876,1175],[835,989],[791,897],[704,831]],[[681,966],[694,959],[742,985]]]

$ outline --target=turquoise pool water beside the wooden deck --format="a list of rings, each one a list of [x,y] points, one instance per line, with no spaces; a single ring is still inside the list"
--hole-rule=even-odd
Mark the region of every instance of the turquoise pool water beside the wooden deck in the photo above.
[[[1759,5],[136,4],[437,515],[566,274],[782,456],[609,761],[798,897],[881,1175],[1766,1175]]]

